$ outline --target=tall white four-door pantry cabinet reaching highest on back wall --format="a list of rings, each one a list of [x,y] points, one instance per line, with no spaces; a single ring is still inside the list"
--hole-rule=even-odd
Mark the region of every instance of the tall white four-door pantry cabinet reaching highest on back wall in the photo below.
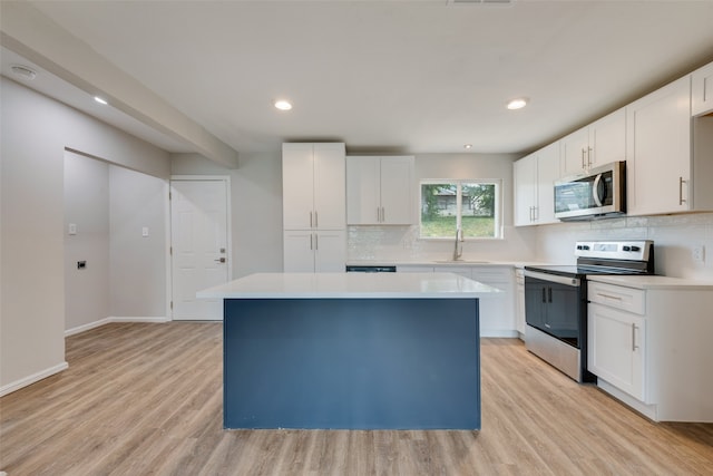
[[[282,145],[285,272],[343,272],[346,262],[343,143]]]

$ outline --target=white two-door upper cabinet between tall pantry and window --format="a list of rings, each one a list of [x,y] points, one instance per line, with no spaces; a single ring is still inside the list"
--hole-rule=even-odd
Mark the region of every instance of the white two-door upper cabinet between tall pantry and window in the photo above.
[[[346,223],[413,223],[413,156],[346,157]]]

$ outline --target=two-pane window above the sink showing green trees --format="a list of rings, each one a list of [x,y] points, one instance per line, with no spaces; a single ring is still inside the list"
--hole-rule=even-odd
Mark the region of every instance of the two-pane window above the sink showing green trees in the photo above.
[[[422,239],[498,239],[500,181],[421,181]]]

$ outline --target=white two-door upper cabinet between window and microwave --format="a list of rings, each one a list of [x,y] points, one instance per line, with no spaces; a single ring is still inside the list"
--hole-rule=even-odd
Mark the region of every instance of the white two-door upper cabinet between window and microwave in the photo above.
[[[559,178],[559,143],[514,164],[515,225],[557,223],[554,184]]]

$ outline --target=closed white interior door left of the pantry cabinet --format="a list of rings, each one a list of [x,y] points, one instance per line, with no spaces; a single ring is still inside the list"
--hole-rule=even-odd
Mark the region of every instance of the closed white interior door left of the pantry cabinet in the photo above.
[[[227,183],[178,179],[170,188],[173,318],[222,320],[223,300],[196,292],[228,280]]]

